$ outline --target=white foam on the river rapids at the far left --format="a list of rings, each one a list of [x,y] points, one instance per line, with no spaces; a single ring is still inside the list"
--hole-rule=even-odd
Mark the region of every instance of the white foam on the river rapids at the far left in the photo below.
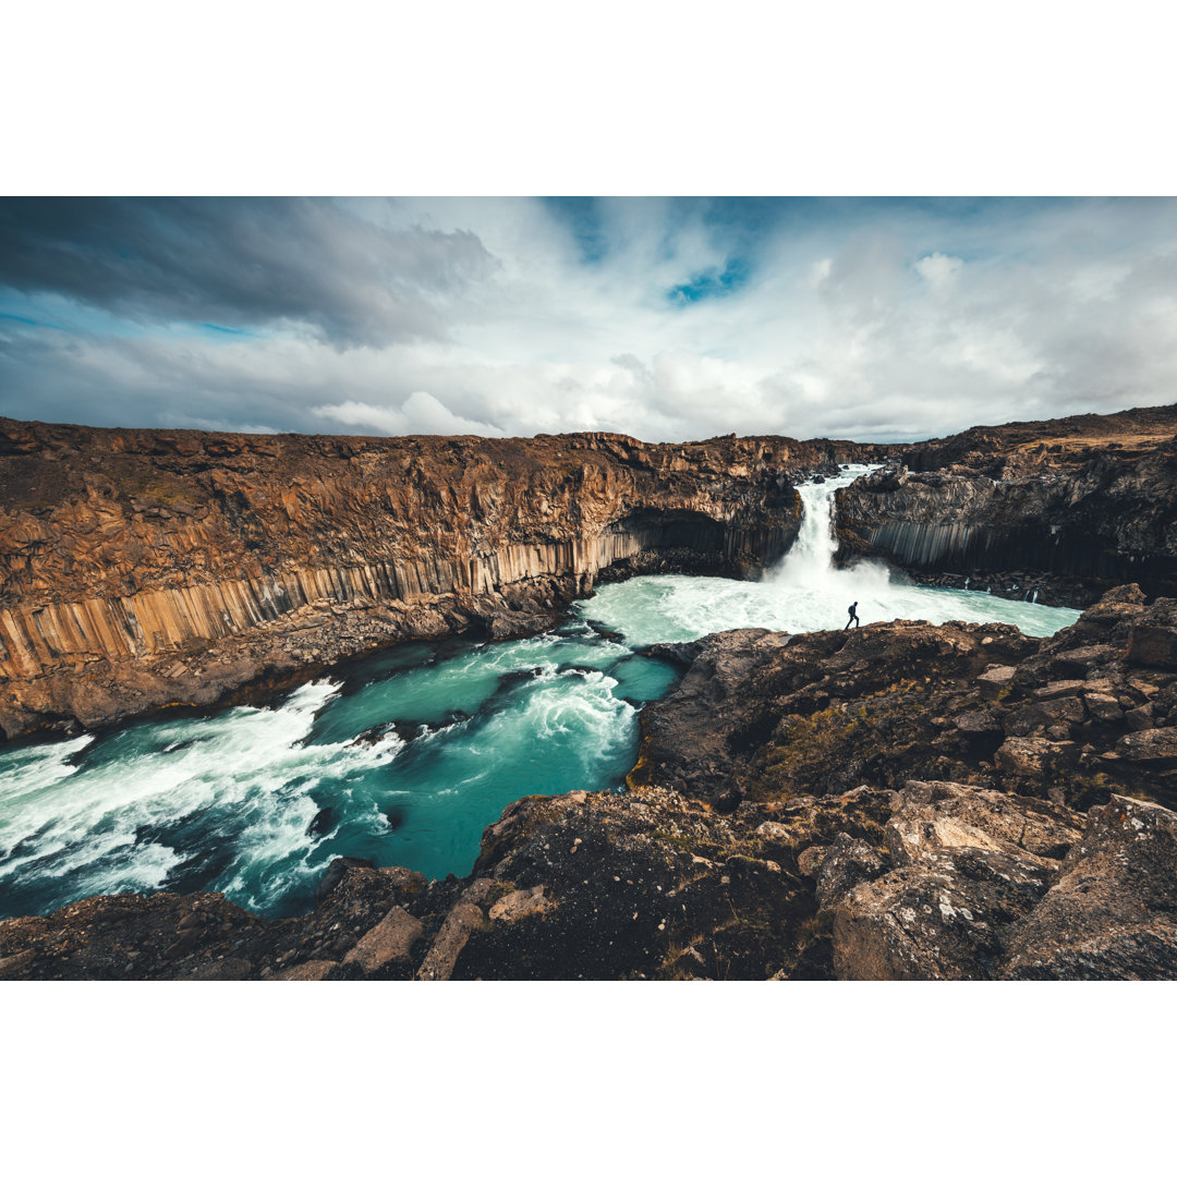
[[[111,742],[124,754],[94,765],[64,763],[92,737],[51,745],[40,771],[28,757],[15,766],[0,757],[0,853],[9,853],[0,879],[77,875],[79,895],[158,887],[184,856],[140,842],[139,831],[208,812],[240,827],[237,869],[219,889],[245,895],[246,876],[285,859],[297,869],[315,844],[305,833],[318,812],[311,790],[388,763],[403,746],[393,733],[371,745],[304,745],[315,712],[338,689],[310,683],[277,709],[235,707],[126,730]]]

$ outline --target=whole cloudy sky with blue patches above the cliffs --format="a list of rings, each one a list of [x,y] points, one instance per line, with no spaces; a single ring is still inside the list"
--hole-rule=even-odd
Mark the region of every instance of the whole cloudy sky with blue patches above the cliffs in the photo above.
[[[1177,400],[1177,201],[0,199],[0,414],[899,440]]]

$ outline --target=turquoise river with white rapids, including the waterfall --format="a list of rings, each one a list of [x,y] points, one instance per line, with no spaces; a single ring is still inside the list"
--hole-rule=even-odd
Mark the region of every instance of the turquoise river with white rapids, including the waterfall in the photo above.
[[[508,802],[624,787],[638,713],[679,673],[641,653],[658,641],[842,629],[851,601],[863,624],[997,620],[1036,636],[1078,617],[834,568],[833,491],[864,470],[800,487],[802,533],[759,581],[638,577],[538,637],[406,645],[268,706],[0,751],[0,918],[149,890],[295,915],[338,855],[465,875]]]

